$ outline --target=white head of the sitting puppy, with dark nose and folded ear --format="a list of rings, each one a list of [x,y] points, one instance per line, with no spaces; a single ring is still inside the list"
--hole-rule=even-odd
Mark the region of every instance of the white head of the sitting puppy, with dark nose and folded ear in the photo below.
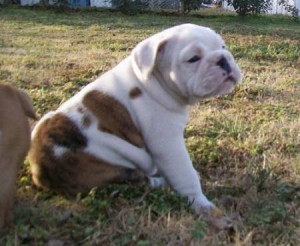
[[[230,93],[241,81],[241,70],[213,30],[183,24],[139,43],[133,67],[142,82],[154,76],[187,104]]]

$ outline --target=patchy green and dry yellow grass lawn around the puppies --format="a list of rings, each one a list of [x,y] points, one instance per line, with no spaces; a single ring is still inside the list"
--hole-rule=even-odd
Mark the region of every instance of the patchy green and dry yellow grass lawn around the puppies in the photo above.
[[[191,107],[185,137],[205,193],[235,218],[234,229],[210,228],[168,189],[114,185],[74,200],[37,190],[26,161],[1,245],[300,244],[300,25],[207,11],[0,9],[0,82],[24,89],[42,115],[145,37],[184,22],[214,28],[237,58],[243,84]]]

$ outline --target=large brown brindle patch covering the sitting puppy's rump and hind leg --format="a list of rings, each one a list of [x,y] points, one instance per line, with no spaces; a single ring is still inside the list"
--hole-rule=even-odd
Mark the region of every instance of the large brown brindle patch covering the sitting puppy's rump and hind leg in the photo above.
[[[59,194],[75,195],[87,194],[93,187],[144,179],[138,170],[118,167],[83,152],[86,144],[87,139],[66,116],[56,114],[45,120],[29,153],[34,183]],[[56,157],[54,146],[67,151]]]

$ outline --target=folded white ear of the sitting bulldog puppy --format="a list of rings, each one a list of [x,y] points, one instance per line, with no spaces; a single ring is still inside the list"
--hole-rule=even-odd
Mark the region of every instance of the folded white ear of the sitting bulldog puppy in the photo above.
[[[144,81],[149,78],[155,66],[156,57],[159,52],[163,52],[167,42],[167,37],[153,36],[133,49],[133,68],[140,79]]]

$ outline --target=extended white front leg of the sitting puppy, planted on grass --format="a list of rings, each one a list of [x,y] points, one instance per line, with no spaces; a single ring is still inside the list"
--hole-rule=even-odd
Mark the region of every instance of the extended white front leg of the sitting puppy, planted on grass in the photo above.
[[[198,172],[194,169],[182,136],[172,136],[149,146],[159,173],[180,195],[188,198],[191,207],[200,213],[215,206],[203,194]]]

